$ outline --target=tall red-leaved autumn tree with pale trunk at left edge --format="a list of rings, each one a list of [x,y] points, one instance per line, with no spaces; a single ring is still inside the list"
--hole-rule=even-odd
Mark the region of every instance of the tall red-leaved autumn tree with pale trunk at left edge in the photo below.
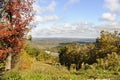
[[[27,26],[32,21],[33,0],[0,0],[0,60],[11,69],[12,57],[25,42]]]

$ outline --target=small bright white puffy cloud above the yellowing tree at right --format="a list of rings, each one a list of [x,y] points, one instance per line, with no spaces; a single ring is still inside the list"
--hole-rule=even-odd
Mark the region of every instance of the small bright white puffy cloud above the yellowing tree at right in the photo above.
[[[111,14],[111,13],[103,13],[101,20],[104,21],[115,21],[116,20],[116,14]]]

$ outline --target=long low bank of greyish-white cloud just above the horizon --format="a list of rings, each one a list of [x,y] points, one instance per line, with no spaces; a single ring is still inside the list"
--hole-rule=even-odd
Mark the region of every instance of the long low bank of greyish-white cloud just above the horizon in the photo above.
[[[47,25],[49,26],[49,25]],[[79,23],[62,23],[56,24],[52,27],[37,27],[34,30],[34,35],[37,37],[95,37],[95,29],[93,25],[86,24],[86,22]],[[88,34],[89,33],[89,34]],[[40,36],[38,36],[40,35]]]

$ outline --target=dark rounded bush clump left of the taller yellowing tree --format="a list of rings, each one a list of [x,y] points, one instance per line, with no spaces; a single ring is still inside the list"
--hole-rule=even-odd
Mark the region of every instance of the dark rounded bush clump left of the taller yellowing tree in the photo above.
[[[59,61],[70,69],[71,64],[76,64],[76,69],[81,68],[82,63],[94,63],[94,44],[79,45],[70,44],[61,47],[59,51]]]

